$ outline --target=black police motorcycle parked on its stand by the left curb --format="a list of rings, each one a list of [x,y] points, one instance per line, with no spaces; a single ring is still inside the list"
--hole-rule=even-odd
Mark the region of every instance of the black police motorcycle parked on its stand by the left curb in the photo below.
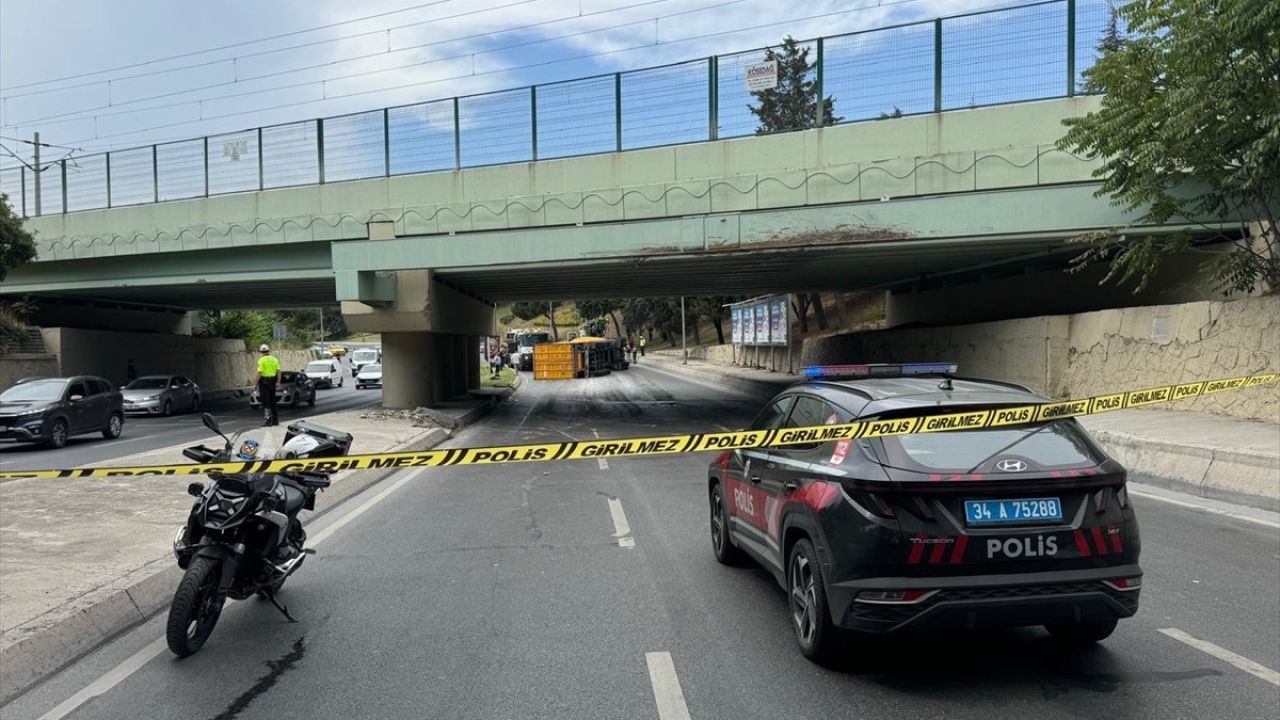
[[[291,424],[283,438],[276,428],[253,428],[227,437],[212,415],[205,427],[221,436],[224,446],[187,447],[197,462],[252,462],[292,457],[333,457],[351,450],[352,437],[305,420]],[[329,487],[328,471],[220,473],[210,471],[209,486],[191,483],[196,498],[187,524],[173,541],[178,566],[186,570],[169,606],[169,650],[186,657],[197,652],[223,611],[227,598],[259,596],[294,621],[276,594],[315,551],[298,520],[315,510],[316,495]]]

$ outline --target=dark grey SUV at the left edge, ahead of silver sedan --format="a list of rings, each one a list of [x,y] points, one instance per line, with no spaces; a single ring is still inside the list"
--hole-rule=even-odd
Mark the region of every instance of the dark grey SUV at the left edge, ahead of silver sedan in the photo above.
[[[114,439],[123,429],[124,400],[104,378],[31,378],[0,392],[0,441],[63,447],[72,436]]]

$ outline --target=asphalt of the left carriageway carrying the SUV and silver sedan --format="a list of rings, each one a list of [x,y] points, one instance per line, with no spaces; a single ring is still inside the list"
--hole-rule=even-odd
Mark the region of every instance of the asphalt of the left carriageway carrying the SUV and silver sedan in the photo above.
[[[381,404],[380,388],[357,391],[351,378],[349,364],[343,363],[342,366],[347,375],[343,387],[316,388],[315,407],[307,406],[306,402],[298,407],[280,407],[280,424],[323,413],[374,407]],[[201,410],[212,413],[228,434],[262,423],[262,411],[250,407],[247,392],[244,397],[205,402]],[[88,462],[207,439],[209,430],[201,424],[200,413],[170,418],[129,415],[124,419],[124,432],[116,439],[102,439],[99,433],[77,436],[68,439],[67,446],[60,450],[46,450],[28,443],[0,443],[0,466],[6,470],[78,468]]]

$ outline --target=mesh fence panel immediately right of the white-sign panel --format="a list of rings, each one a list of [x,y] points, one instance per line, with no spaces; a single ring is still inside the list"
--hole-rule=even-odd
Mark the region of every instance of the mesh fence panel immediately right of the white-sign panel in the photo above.
[[[837,122],[933,110],[933,23],[828,37],[822,91]]]

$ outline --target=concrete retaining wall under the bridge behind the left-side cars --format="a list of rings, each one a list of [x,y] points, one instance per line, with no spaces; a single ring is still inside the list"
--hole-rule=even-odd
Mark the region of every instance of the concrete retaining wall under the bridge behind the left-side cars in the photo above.
[[[132,357],[140,375],[186,375],[207,396],[248,387],[257,366],[257,352],[242,340],[81,328],[42,328],[41,333],[58,356],[55,372],[46,374],[101,375],[124,384]],[[275,356],[285,370],[301,370],[311,360],[307,350],[280,350]]]

